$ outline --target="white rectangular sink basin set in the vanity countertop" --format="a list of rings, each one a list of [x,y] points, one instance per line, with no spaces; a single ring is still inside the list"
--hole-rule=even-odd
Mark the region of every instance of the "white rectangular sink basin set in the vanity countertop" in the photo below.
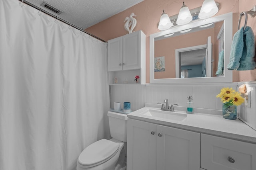
[[[154,109],[148,109],[146,111],[143,111],[140,113],[144,116],[149,116],[154,118],[160,118],[165,119],[166,121],[169,120],[176,120],[176,121],[184,121],[187,117],[186,113],[178,113],[176,111],[162,111],[162,110],[154,110]]]

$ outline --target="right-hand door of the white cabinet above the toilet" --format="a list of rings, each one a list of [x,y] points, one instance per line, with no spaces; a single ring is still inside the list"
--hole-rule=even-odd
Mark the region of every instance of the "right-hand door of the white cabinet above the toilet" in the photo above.
[[[140,31],[123,36],[123,70],[140,69]]]

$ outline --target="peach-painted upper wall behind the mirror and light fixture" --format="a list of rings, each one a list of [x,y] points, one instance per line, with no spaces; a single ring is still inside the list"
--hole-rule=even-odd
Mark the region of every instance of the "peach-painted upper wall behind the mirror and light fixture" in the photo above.
[[[204,0],[190,0],[187,1],[185,4],[190,8],[194,9],[199,6],[202,6]],[[244,1],[250,2],[250,5],[243,4],[243,6],[252,6],[255,4],[256,0],[215,0],[216,2],[220,3],[220,10],[218,14],[221,15],[228,12],[233,12],[233,33],[236,32],[237,23],[238,23],[238,12],[239,12],[239,4],[243,4]],[[162,10],[164,9],[169,16],[173,16],[178,14],[183,0],[144,0],[139,4],[128,8],[127,10],[120,12],[96,25],[93,25],[86,29],[86,31],[104,39],[109,40],[113,39],[128,33],[124,29],[124,19],[126,16],[130,16],[132,12],[136,15],[137,25],[134,31],[142,30],[146,34],[146,82],[149,83],[150,73],[149,73],[149,35],[152,33],[159,32],[157,28],[158,21],[162,14]],[[253,5],[252,5],[253,4]],[[243,7],[245,8],[245,7]],[[236,17],[234,17],[236,16]],[[251,23],[254,21],[248,22]],[[254,29],[256,31],[256,29]],[[255,71],[253,76],[255,80]],[[250,78],[251,80],[253,77]],[[239,80],[239,73],[234,71],[233,73],[233,81]]]

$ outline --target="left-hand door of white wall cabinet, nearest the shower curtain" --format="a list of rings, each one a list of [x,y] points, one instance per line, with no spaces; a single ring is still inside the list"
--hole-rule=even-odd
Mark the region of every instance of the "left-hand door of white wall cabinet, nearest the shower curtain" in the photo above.
[[[108,71],[122,70],[122,37],[108,41]]]

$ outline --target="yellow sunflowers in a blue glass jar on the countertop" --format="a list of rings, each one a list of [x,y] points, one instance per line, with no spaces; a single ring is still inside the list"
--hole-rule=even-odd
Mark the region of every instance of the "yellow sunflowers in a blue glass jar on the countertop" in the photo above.
[[[236,106],[241,105],[244,102],[239,92],[236,92],[233,88],[222,88],[216,98],[221,98],[222,115],[225,119],[235,120],[237,117]]]

